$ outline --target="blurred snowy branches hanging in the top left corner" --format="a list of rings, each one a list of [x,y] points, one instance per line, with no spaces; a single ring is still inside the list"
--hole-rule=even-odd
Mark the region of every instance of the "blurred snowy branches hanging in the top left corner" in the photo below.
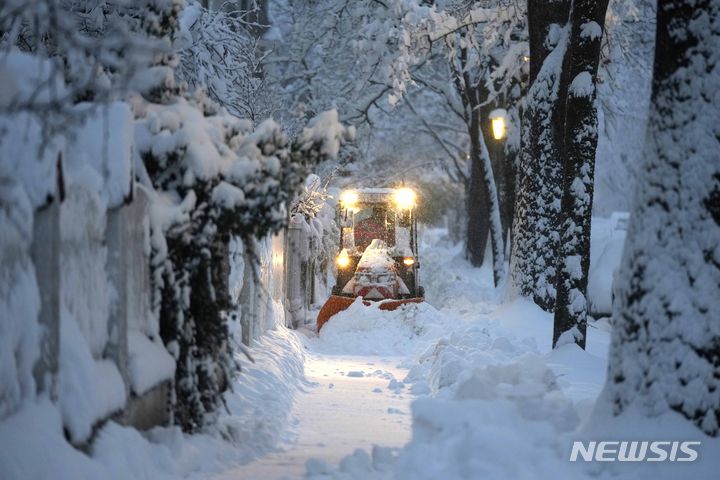
[[[6,113],[36,112],[46,134],[66,132],[81,121],[79,102],[103,103],[121,98],[153,56],[169,48],[140,28],[150,3],[107,4],[82,0],[8,0],[0,3],[0,49],[14,49],[51,59],[50,77],[63,88],[17,96]],[[9,93],[9,92],[6,92]],[[85,114],[91,110],[86,109]]]

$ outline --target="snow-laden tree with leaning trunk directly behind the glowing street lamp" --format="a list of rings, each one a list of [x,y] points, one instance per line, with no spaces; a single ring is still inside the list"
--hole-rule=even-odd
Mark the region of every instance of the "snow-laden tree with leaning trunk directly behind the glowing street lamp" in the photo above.
[[[450,171],[466,186],[468,258],[481,265],[489,237],[495,280],[500,283],[505,268],[501,212],[508,211],[500,200],[513,201],[508,192],[514,191],[514,165],[504,168],[500,150],[488,148],[488,117],[498,106],[517,112],[521,103],[527,46],[522,4],[443,2],[439,7],[396,1],[392,11],[396,20],[383,33],[382,46],[369,47],[389,75],[388,98],[394,104],[404,97],[424,131],[454,164]],[[413,98],[415,85],[443,99],[448,118],[438,121],[424,114],[418,101],[423,95]],[[464,130],[462,146],[454,140],[458,129]]]

